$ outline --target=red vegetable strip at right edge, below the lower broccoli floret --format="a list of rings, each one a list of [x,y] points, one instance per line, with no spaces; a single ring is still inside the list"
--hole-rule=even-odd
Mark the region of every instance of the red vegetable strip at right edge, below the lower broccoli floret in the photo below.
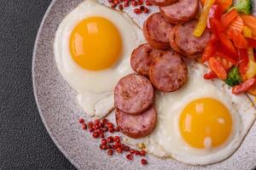
[[[253,87],[253,85],[256,82],[256,78],[250,78],[245,82],[242,82],[240,85],[236,85],[234,88],[232,88],[233,94],[243,94],[246,93],[250,88]]]

